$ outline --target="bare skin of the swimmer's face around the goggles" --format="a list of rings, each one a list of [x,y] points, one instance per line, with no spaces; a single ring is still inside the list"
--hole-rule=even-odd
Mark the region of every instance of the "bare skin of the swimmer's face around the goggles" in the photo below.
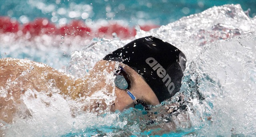
[[[113,72],[116,70],[116,63],[117,62],[108,62],[106,60],[99,61],[94,66],[92,73],[97,71],[108,71],[108,73],[112,72],[113,74]],[[149,87],[146,81],[144,81],[144,79],[136,71],[134,71],[134,69],[122,63],[120,63],[119,65],[124,68],[124,71],[127,73],[130,79],[129,91],[136,97],[136,100],[143,101],[148,105],[160,104],[152,89]],[[97,75],[97,77],[101,77],[101,80],[106,80],[106,75],[104,75],[104,73],[101,73],[101,75]],[[114,77],[115,76],[113,75],[112,78],[114,79]],[[90,79],[92,79],[92,77]],[[126,93],[126,90],[116,87],[113,83],[106,84],[105,81],[99,81],[97,85],[98,89],[96,90],[100,90],[101,87],[106,87],[108,92],[114,91],[116,98],[114,102],[111,102],[110,104],[111,111],[123,111],[124,109],[134,107],[134,100],[132,100],[128,93]]]

